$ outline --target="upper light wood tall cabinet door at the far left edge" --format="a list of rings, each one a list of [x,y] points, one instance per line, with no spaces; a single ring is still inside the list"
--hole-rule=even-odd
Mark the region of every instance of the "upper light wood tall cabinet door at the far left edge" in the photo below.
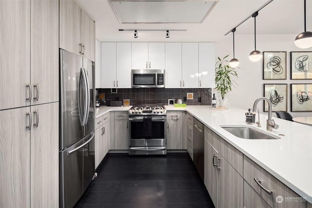
[[[0,110],[30,105],[30,0],[0,1]],[[31,86],[31,85],[30,85]]]

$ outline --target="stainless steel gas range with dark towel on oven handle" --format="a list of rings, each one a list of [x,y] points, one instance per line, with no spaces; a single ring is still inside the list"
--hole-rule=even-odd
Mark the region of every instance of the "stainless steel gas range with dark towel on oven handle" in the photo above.
[[[129,154],[167,154],[164,105],[134,105],[129,110]]]

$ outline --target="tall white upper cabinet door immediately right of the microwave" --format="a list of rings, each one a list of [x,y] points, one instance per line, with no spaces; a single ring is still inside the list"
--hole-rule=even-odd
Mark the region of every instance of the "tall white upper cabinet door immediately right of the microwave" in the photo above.
[[[165,87],[182,87],[182,43],[166,42],[166,67],[165,67]]]

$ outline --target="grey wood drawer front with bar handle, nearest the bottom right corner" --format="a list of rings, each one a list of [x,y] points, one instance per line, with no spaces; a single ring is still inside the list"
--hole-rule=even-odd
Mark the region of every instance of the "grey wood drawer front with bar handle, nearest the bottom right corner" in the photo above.
[[[260,180],[260,184],[264,188],[271,190],[272,193],[269,194],[264,189],[261,189],[260,186],[255,182],[254,178]],[[276,208],[306,207],[305,201],[299,202],[292,200],[287,201],[286,197],[300,197],[300,196],[245,155],[244,155],[244,179],[257,192],[257,194],[259,194],[271,207]],[[277,203],[275,200],[277,196],[282,196],[284,201],[282,203]]]

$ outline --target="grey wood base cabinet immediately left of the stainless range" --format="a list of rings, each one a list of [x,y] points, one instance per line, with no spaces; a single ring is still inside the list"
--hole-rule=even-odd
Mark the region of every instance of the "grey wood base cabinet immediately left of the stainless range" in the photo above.
[[[114,112],[114,150],[129,149],[129,116],[128,111]]]

